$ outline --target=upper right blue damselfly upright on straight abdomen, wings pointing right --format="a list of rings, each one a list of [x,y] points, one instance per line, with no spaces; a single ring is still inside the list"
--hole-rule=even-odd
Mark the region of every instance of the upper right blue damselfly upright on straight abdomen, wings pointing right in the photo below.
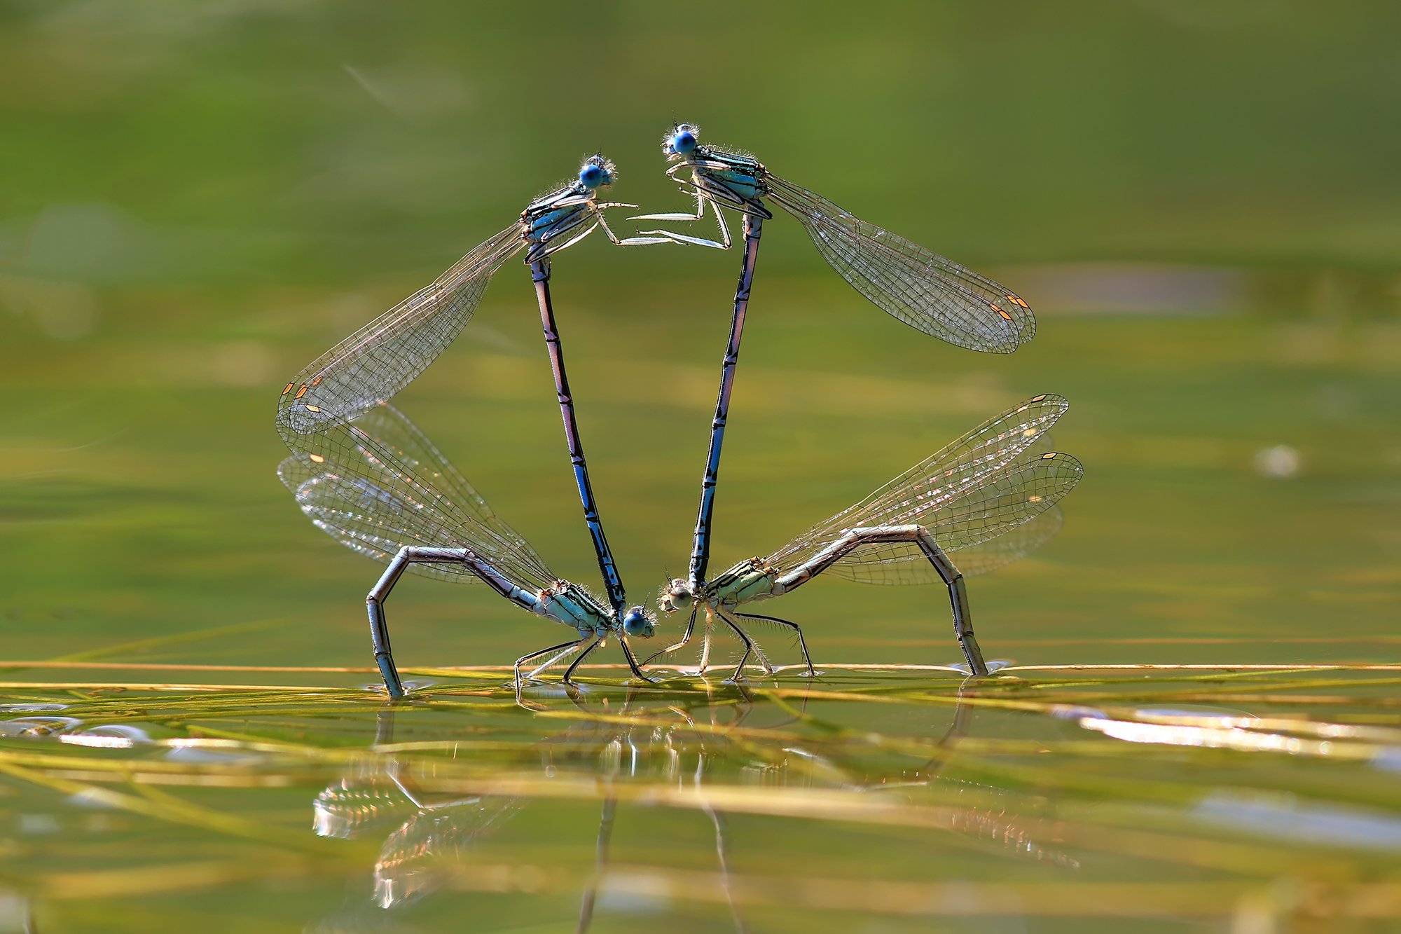
[[[705,583],[710,558],[710,522],[720,473],[720,447],[730,414],[744,314],[754,285],[759,234],[764,222],[773,217],[765,199],[797,217],[822,258],[857,292],[925,334],[972,351],[1010,353],[1033,338],[1037,323],[1030,306],[1014,292],[773,175],[752,156],[702,144],[699,129],[691,123],[674,126],[663,139],[661,147],[672,163],[667,175],[681,182],[682,191],[688,187],[695,191],[696,210],[693,215],[642,215],[636,220],[700,220],[709,205],[720,226],[720,240],[671,230],[646,230],[642,231],[644,237],[665,237],[677,243],[729,250],[730,229],[720,209],[731,208],[744,215],[744,262],[734,292],[730,342],[726,346],[720,394],[710,426],[710,450],[691,551],[689,583],[699,588]]]

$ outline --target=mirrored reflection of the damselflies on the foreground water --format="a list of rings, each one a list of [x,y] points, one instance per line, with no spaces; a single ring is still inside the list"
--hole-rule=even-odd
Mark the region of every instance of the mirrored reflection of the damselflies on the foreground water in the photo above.
[[[737,931],[748,930],[741,906],[764,899],[752,891],[745,896],[752,881],[743,874],[737,881],[731,825],[757,816],[811,816],[783,809],[782,792],[793,790],[850,795],[853,806],[860,808],[871,797],[912,804],[936,788],[937,830],[1007,858],[1079,868],[1072,855],[1042,839],[1047,826],[1055,826],[1045,819],[1044,801],[943,774],[950,762],[944,753],[969,729],[972,710],[961,701],[933,746],[937,754],[927,756],[926,746],[920,757],[897,757],[890,767],[873,771],[870,749],[860,743],[824,747],[820,739],[804,739],[818,722],[807,715],[806,696],[792,707],[757,701],[729,686],[723,694],[665,701],[653,700],[654,693],[644,698],[629,691],[621,704],[616,697],[566,696],[573,707],[566,712],[577,714],[581,722],[544,739],[513,736],[506,729],[478,731],[454,739],[447,759],[422,754],[420,749],[433,743],[416,739],[413,726],[401,729],[417,721],[422,711],[389,704],[378,712],[371,747],[312,802],[312,829],[321,837],[382,836],[373,889],[361,896],[364,910],[396,910],[434,892],[461,888],[464,874],[472,875],[472,889],[493,888],[489,878],[483,882],[483,872],[500,874],[500,891],[530,891],[535,884],[544,888],[544,879],[532,884],[523,874],[545,869],[495,864],[483,850],[532,804],[577,799],[572,783],[579,780],[594,783],[590,797],[600,802],[593,867],[580,885],[579,931],[588,930],[598,912],[651,910],[657,899],[670,903],[665,886],[649,888],[647,879],[637,878],[636,868],[646,860],[623,861],[616,872],[611,871],[616,818],[629,804],[667,804],[696,812],[709,825],[715,855],[706,878],[717,886],[710,900],[724,903],[729,924]],[[488,756],[510,763],[503,766],[504,784],[511,784],[513,776],[538,777],[516,781],[520,794],[464,792],[454,780],[461,776],[457,763]],[[731,794],[745,788],[779,794]],[[667,794],[654,794],[657,790]]]

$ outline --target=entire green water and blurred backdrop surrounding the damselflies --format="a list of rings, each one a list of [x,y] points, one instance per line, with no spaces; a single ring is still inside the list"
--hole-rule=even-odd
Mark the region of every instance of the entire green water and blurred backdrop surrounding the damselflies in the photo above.
[[[0,18],[0,933],[1401,930],[1394,10],[752,4],[758,55],[688,7],[478,6]],[[681,80],[702,52],[744,94]],[[729,567],[1068,397],[1063,529],[968,583],[1010,668],[950,668],[941,588],[818,579],[780,610],[818,679],[517,704],[562,630],[408,578],[387,707],[380,567],[277,481],[277,393],[581,154],[682,209],[671,116],[1035,307],[958,351],[769,223],[716,508]],[[685,569],[737,265],[555,264],[639,602]],[[395,402],[594,583],[524,268]]]

